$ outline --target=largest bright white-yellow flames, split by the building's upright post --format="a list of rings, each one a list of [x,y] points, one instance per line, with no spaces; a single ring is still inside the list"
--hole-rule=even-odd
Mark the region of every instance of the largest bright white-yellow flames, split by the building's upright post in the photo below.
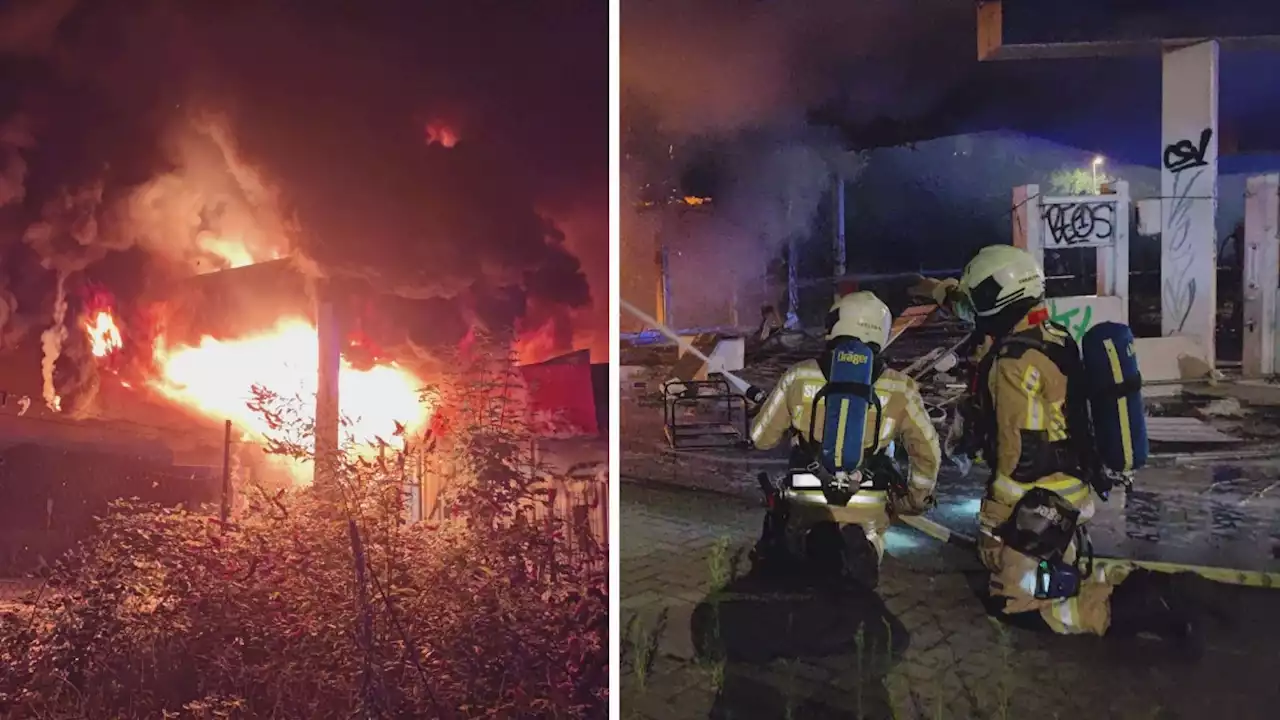
[[[246,338],[205,336],[196,346],[168,347],[160,338],[154,356],[159,374],[148,384],[155,391],[259,437],[269,427],[246,405],[255,384],[311,398],[319,379],[319,338],[315,325],[302,318],[282,319],[271,331]],[[421,387],[413,373],[396,363],[360,370],[343,359],[338,397],[342,414],[351,420],[347,432],[357,442],[376,437],[390,442],[397,421],[415,432],[425,428],[430,409],[419,398]]]

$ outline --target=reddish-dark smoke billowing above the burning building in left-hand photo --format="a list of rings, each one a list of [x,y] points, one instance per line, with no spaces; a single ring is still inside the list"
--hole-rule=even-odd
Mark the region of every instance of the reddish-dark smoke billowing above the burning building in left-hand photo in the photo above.
[[[607,346],[607,6],[550,5],[10,4],[0,337],[56,364],[81,275],[132,299],[292,255],[397,296],[404,341]]]

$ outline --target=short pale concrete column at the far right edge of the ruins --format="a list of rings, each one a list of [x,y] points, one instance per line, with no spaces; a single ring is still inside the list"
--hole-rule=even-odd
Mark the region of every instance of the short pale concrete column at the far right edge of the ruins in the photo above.
[[[1252,177],[1244,191],[1245,378],[1276,372],[1276,293],[1280,292],[1280,174]]]

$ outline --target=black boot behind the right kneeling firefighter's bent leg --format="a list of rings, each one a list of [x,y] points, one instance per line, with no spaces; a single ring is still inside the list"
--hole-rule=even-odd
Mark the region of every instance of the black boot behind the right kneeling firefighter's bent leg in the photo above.
[[[1170,641],[1188,659],[1203,652],[1199,612],[1181,597],[1172,575],[1138,569],[1111,593],[1111,625],[1107,635],[1153,634]]]

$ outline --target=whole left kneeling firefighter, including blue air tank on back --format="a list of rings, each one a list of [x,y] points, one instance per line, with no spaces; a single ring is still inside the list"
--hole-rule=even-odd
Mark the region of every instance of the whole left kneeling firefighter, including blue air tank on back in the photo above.
[[[815,543],[806,547],[810,530],[838,528],[842,573],[874,588],[888,507],[919,514],[931,506],[938,436],[915,380],[886,368],[879,356],[891,325],[888,307],[870,292],[836,300],[822,356],[788,368],[760,405],[751,443],[768,450],[790,430],[792,450],[783,487],[767,483],[771,507],[754,562],[787,565],[820,553]],[[906,478],[882,452],[897,436],[910,457]]]

